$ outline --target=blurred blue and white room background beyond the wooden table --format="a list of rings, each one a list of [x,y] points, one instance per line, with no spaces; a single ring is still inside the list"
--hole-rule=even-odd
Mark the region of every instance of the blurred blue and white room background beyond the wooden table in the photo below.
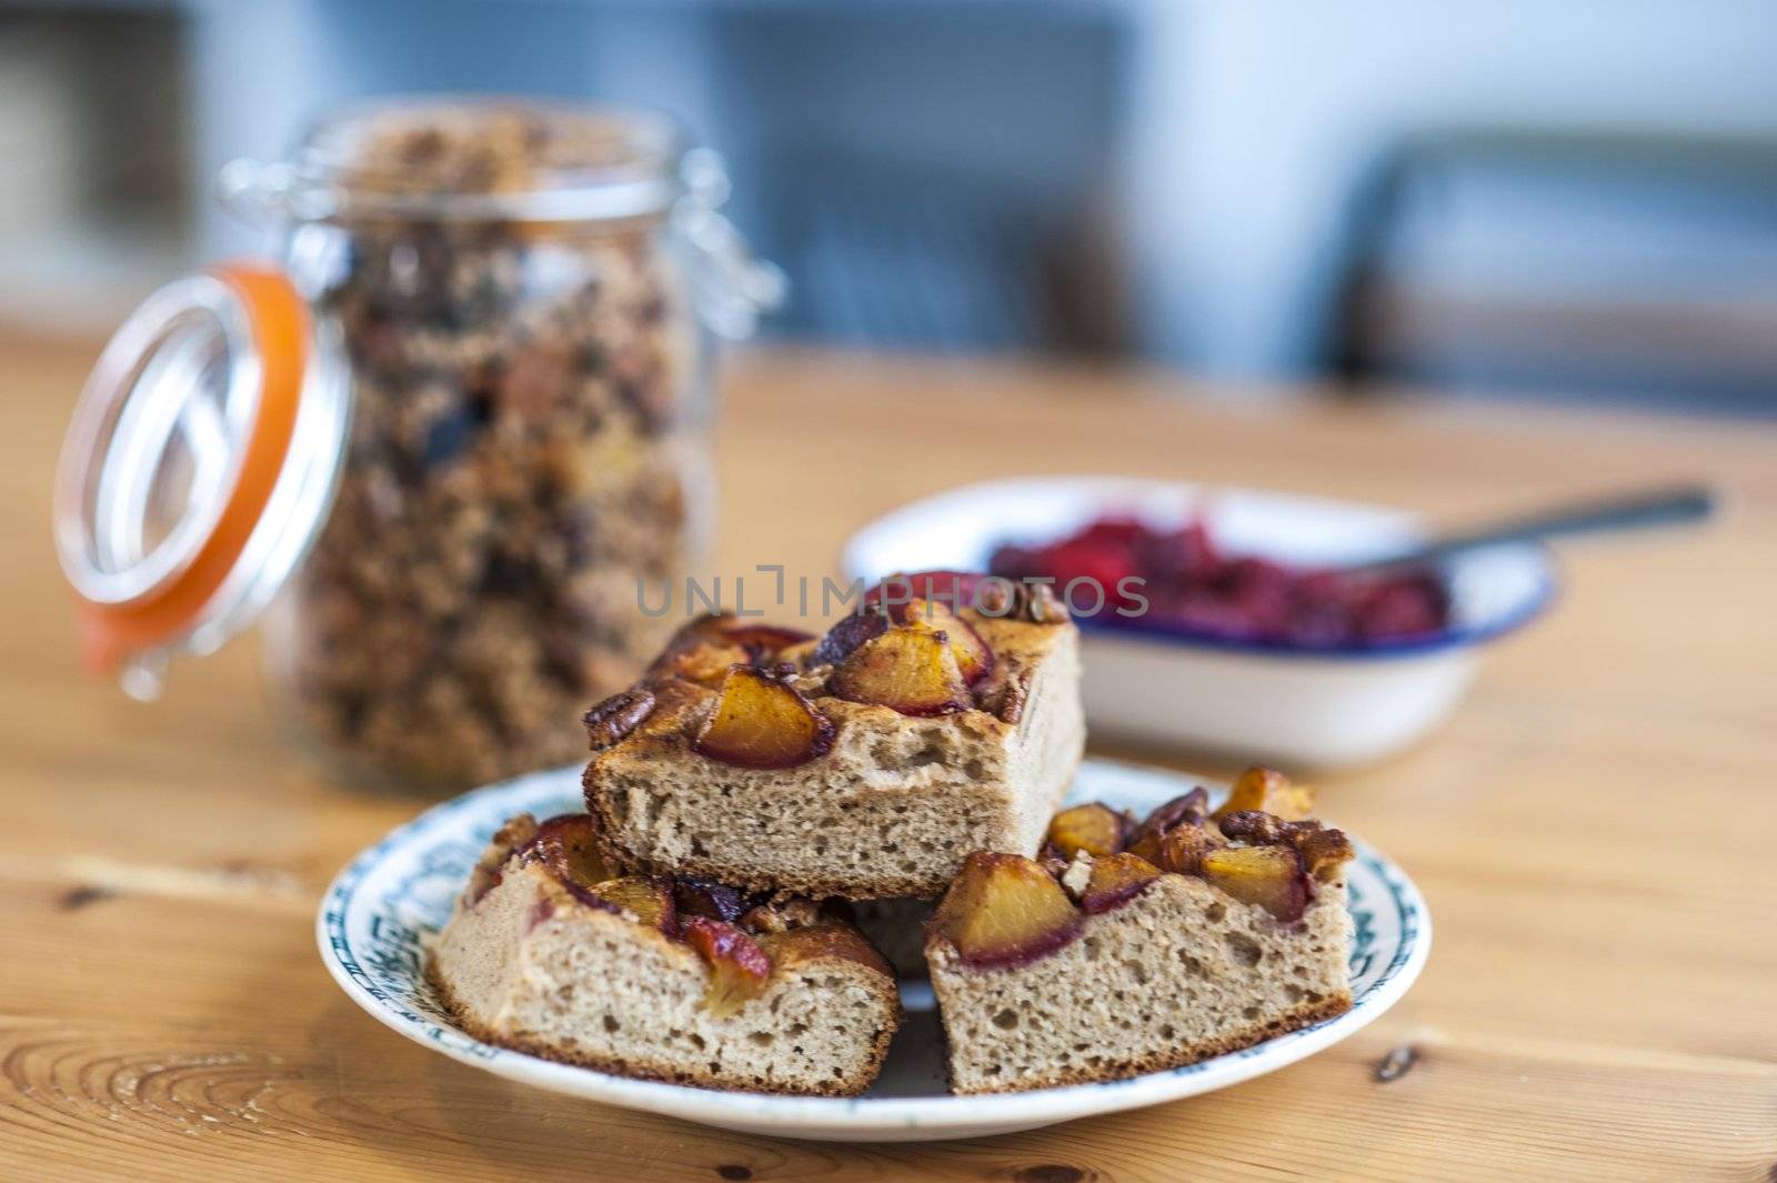
[[[0,330],[263,249],[222,162],[434,89],[679,114],[784,339],[1777,412],[1752,0],[0,0]]]

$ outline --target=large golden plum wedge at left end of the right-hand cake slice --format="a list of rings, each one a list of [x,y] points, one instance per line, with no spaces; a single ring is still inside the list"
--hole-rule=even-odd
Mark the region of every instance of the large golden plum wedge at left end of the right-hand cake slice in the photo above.
[[[993,968],[1061,949],[1080,934],[1080,913],[1029,858],[976,851],[944,893],[931,931],[968,965]]]

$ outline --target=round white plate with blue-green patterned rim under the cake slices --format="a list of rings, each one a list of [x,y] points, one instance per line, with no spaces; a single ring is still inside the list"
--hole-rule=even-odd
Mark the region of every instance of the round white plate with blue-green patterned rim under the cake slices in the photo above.
[[[1203,783],[1162,769],[1088,760],[1072,798],[1148,810]],[[1374,1021],[1407,991],[1430,950],[1430,917],[1413,881],[1358,844],[1351,865],[1352,1009],[1244,1052],[1111,1084],[1008,1096],[951,1096],[929,988],[903,991],[908,1018],[888,1064],[862,1098],[787,1098],[714,1092],[627,1080],[508,1052],[466,1036],[439,1007],[423,973],[426,941],[450,917],[482,847],[512,814],[579,810],[579,767],[490,785],[439,805],[394,830],[339,872],[316,917],[322,961],[347,995],[377,1020],[434,1052],[542,1089],[608,1105],[670,1114],[748,1133],[830,1142],[963,1139],[1173,1101],[1274,1071]]]

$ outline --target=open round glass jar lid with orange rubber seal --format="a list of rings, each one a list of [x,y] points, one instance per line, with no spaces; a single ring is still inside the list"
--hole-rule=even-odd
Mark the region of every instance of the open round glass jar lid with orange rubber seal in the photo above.
[[[332,497],[350,384],[291,282],[231,263],[155,291],[105,346],[55,474],[82,661],[153,698],[277,593]]]

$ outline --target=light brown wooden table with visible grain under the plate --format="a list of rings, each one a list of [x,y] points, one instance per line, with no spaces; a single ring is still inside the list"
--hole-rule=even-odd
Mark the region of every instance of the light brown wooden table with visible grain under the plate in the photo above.
[[[1322,782],[1425,888],[1384,1020],[1146,1112],[935,1146],[704,1130],[402,1041],[315,952],[322,886],[409,817],[311,774],[254,645],[135,705],[73,666],[46,531],[91,348],[11,343],[0,481],[0,1178],[1777,1179],[1777,430],[1377,405],[1175,380],[757,355],[721,414],[723,568],[835,565],[908,497],[1013,472],[1192,476],[1461,519],[1708,476],[1706,531],[1574,549],[1418,751]],[[785,465],[817,490],[798,501]],[[1175,755],[1175,760],[1187,757]],[[1377,1064],[1411,1048],[1395,1080]]]

